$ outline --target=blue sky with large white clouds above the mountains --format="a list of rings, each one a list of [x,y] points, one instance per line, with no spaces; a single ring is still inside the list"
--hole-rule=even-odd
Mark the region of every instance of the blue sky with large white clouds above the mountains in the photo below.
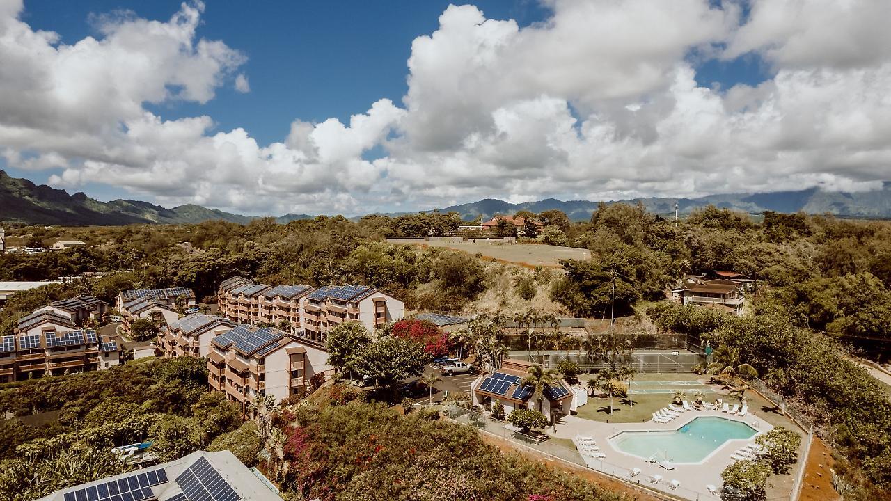
[[[84,191],[103,201],[136,198],[166,206],[196,202],[245,213],[429,208],[484,197],[609,200],[814,185],[871,189],[879,177],[887,176],[881,169],[884,160],[857,155],[856,146],[836,156],[838,149],[830,154],[818,152],[827,144],[819,135],[812,135],[813,144],[799,144],[797,139],[776,143],[768,136],[756,140],[749,136],[772,127],[780,127],[774,130],[775,136],[806,136],[805,131],[793,129],[816,124],[783,117],[813,112],[817,113],[814,120],[830,128],[850,121],[841,107],[833,116],[825,111],[846,97],[833,94],[839,87],[832,85],[832,78],[852,80],[854,90],[848,94],[853,102],[846,106],[853,110],[852,115],[861,107],[867,114],[884,112],[864,97],[870,95],[867,89],[859,91],[881,80],[869,72],[880,71],[887,61],[889,51],[880,48],[879,40],[887,30],[870,23],[881,19],[887,4],[880,0],[862,3],[857,12],[839,10],[830,15],[809,4],[784,5],[776,10],[776,4],[767,0],[688,0],[649,7],[635,0],[481,0],[460,8],[432,0],[210,1],[203,8],[200,4],[183,8],[180,1],[166,0],[25,0],[21,11],[12,13],[26,29],[58,33],[59,40],[51,43],[55,47],[75,45],[85,37],[106,42],[97,28],[108,22],[103,15],[117,12],[118,17],[113,18],[117,26],[139,26],[142,20],[167,23],[176,12],[184,12],[181,9],[195,7],[200,21],[185,41],[189,53],[182,57],[152,53],[151,46],[117,46],[119,41],[110,45],[130,51],[135,59],[157,56],[160,73],[184,62],[191,68],[208,59],[222,61],[222,56],[215,59],[196,54],[200,39],[219,41],[225,50],[239,51],[247,59],[232,69],[200,75],[218,80],[211,89],[214,97],[207,103],[178,98],[148,103],[145,96],[151,95],[151,89],[131,89],[133,82],[126,78],[116,81],[114,85],[123,85],[124,92],[132,95],[122,96],[123,104],[109,98],[110,117],[104,119],[111,121],[97,129],[100,132],[85,137],[86,143],[95,140],[95,146],[65,144],[63,134],[52,141],[45,139],[47,134],[59,132],[54,130],[37,129],[28,140],[21,136],[4,139],[4,118],[0,117],[0,168],[13,177],[28,177],[70,193]],[[473,6],[487,20],[516,21],[519,30],[501,21],[478,24],[482,14],[475,13]],[[128,13],[122,16],[120,12]],[[440,16],[446,14],[452,21],[441,25]],[[846,15],[857,17],[830,22],[822,31],[814,29],[821,22],[842,20]],[[434,32],[439,38],[427,38],[421,52],[414,53],[420,70],[415,71],[416,84],[410,89],[407,61],[413,56],[413,41]],[[809,39],[813,33],[821,35]],[[477,46],[463,44],[471,38]],[[870,40],[876,43],[867,44]],[[834,52],[837,47],[852,47],[857,61],[854,55]],[[101,93],[119,90],[113,85],[103,87],[101,80],[71,80],[70,75],[84,78],[84,74],[64,66],[61,53],[47,54],[45,49],[28,52],[34,47],[24,42],[13,47],[13,52],[17,48],[24,54],[18,60],[12,59],[19,55],[16,53],[0,56],[34,62],[35,68],[40,68],[43,61],[32,61],[34,54],[40,53],[47,57],[48,67],[58,72],[53,80],[56,87],[46,99],[35,102],[36,107],[43,103],[45,109],[36,110],[34,116],[52,116],[58,111],[60,130],[78,131],[82,124],[78,111],[71,111],[73,115],[59,111],[59,105],[52,102],[54,97],[74,89],[87,101],[100,103]],[[144,54],[140,53],[143,49]],[[95,57],[105,56],[97,50]],[[461,57],[466,58],[466,64],[456,66]],[[678,68],[688,66],[692,70],[689,75],[677,73]],[[16,69],[10,74],[29,75],[29,70],[33,69]],[[867,73],[858,74],[858,70]],[[113,69],[109,74],[121,79]],[[234,88],[236,74],[249,79],[248,93]],[[773,81],[778,75],[784,78]],[[39,87],[44,82],[38,79],[31,85]],[[0,75],[0,92],[7,84],[16,90],[5,91],[8,103],[0,96],[0,112],[10,117],[17,111],[17,102],[29,96],[17,95],[20,84],[4,82]],[[754,88],[761,84],[769,85]],[[83,94],[85,85],[96,87],[94,95]],[[169,82],[152,85],[171,88]],[[707,92],[693,91],[691,86]],[[414,102],[404,100],[410,92],[415,95]],[[792,99],[803,95],[813,95],[812,103]],[[821,104],[820,98],[825,98],[825,103]],[[200,154],[184,161],[204,165],[178,183],[152,182],[163,180],[170,162],[183,158],[192,146],[177,144],[178,149],[164,152],[163,143],[109,134],[120,124],[138,121],[133,107],[127,108],[127,100],[141,103],[143,113],[161,122],[180,124],[209,117],[213,126],[205,128],[202,137],[225,136],[217,139],[241,152],[246,163],[217,173],[215,166],[233,159],[235,150],[223,152],[219,144],[195,143],[193,151]],[[381,100],[392,105],[381,104]],[[368,116],[372,103],[380,104],[377,118]],[[124,111],[116,110],[118,105]],[[684,109],[678,108],[682,105]],[[102,108],[102,104],[97,106]],[[805,106],[813,109],[805,110]],[[350,117],[356,114],[374,123],[350,127]],[[516,123],[505,121],[515,117],[519,117]],[[94,123],[93,117],[87,118]],[[319,127],[330,119],[339,120],[342,126]],[[568,136],[556,140],[552,133],[562,130],[560,123],[565,119],[575,119],[576,124]],[[315,146],[328,144],[327,150],[322,146],[318,152],[301,150],[306,145],[300,146],[296,136],[289,138],[295,120],[315,124],[315,130],[307,134]],[[881,136],[879,128],[873,127],[881,122],[880,117],[871,120],[866,136]],[[586,136],[599,130],[597,127],[613,131],[609,143],[603,142],[606,136]],[[227,136],[238,128],[246,131],[245,137]],[[719,148],[709,135],[720,131],[724,144]],[[861,130],[850,140],[863,142],[862,137]],[[256,142],[251,144],[259,149],[254,146],[249,151],[245,141]],[[286,143],[289,150],[265,150],[274,143]],[[6,158],[17,160],[4,160],[4,147]],[[864,152],[871,151],[864,148]],[[347,154],[344,151],[352,156],[341,158]],[[47,154],[55,159],[45,162],[49,167],[24,162]],[[316,154],[329,160],[319,160]],[[288,172],[296,177],[311,177],[311,182],[271,186],[269,179],[281,176],[276,173],[282,165],[290,166]],[[723,175],[709,172],[709,166],[723,168],[719,169]],[[151,172],[151,179],[140,177],[140,169]],[[196,174],[208,170],[207,176]],[[239,171],[245,176],[239,177]],[[347,177],[361,178],[361,182],[340,183],[325,177],[325,172],[348,172]],[[579,182],[583,172],[584,182]],[[482,181],[484,177],[486,181]],[[249,186],[254,180],[257,185]],[[184,185],[193,185],[193,189]],[[255,202],[258,197],[272,197],[276,202],[263,206]]]

